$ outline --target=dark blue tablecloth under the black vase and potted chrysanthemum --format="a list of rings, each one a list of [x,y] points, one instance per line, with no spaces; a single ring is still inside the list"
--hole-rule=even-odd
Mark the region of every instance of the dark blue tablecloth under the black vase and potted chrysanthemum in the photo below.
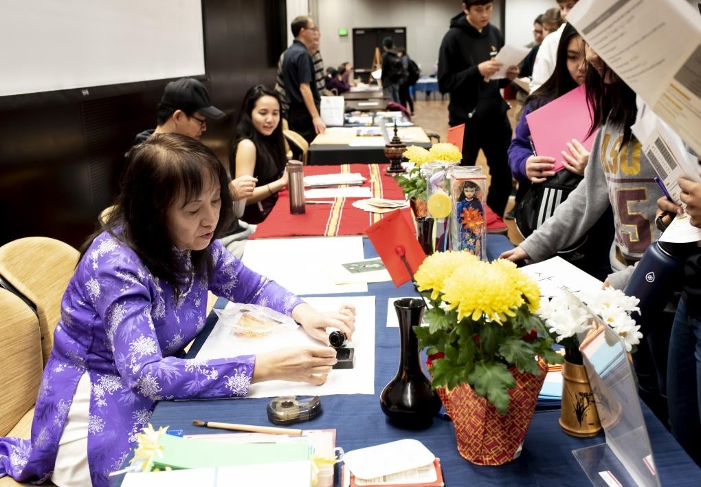
[[[488,244],[490,258],[512,247],[503,236],[490,235]],[[364,240],[364,245],[367,257],[376,255],[367,239]],[[565,434],[557,422],[559,411],[537,411],[526,435],[522,455],[517,460],[499,467],[482,467],[463,460],[458,455],[453,425],[447,420],[436,418],[433,426],[423,431],[407,431],[390,425],[380,409],[379,394],[397,372],[399,330],[384,326],[387,300],[396,296],[413,296],[416,295],[416,291],[409,283],[395,288],[391,282],[386,282],[370,284],[367,295],[376,295],[375,394],[322,396],[322,415],[310,422],[299,423],[297,427],[335,428],[336,446],[341,446],[346,451],[398,439],[418,439],[440,458],[447,486],[590,485],[571,451],[604,443],[604,435],[580,439]],[[217,301],[217,307],[223,307],[225,304],[223,299]],[[193,344],[190,354],[196,354],[216,320],[215,314],[210,314],[205,329]],[[195,419],[270,425],[266,415],[269,400],[163,401],[156,407],[151,423],[154,427],[170,426],[171,429],[184,429],[186,434],[221,432],[193,427],[192,420]],[[700,485],[701,469],[690,460],[644,404],[642,408],[662,485]]]

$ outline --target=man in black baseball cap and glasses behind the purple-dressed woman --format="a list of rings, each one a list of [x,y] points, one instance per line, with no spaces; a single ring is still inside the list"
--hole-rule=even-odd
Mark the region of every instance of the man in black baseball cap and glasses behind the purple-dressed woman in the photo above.
[[[179,133],[200,140],[207,130],[207,119],[221,119],[224,112],[212,106],[207,88],[193,78],[181,78],[165,85],[158,103],[156,128],[136,136],[136,143],[153,133]]]

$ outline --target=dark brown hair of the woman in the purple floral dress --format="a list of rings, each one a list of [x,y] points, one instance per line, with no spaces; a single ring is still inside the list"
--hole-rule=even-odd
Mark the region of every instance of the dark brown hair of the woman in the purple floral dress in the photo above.
[[[81,258],[95,236],[107,230],[132,248],[149,271],[175,287],[189,278],[168,232],[168,211],[199,196],[208,175],[221,190],[222,204],[215,238],[233,219],[233,202],[226,169],[209,147],[177,133],[158,133],[135,145],[127,154],[120,193],[114,210],[104,218],[102,228],[81,248]],[[212,271],[210,246],[191,251],[193,271],[207,275]]]

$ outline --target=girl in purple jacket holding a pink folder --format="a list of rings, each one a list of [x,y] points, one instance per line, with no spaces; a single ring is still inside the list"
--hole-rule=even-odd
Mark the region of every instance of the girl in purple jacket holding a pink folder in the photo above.
[[[589,144],[578,141],[587,138],[592,124],[582,86],[585,74],[584,42],[574,27],[566,25],[558,46],[554,72],[543,86],[526,99],[515,138],[509,147],[509,165],[514,177],[519,180],[519,185],[529,185],[515,208],[516,225],[524,237],[543,225],[583,178],[593,140],[592,136],[588,140]],[[536,145],[536,149],[546,146],[545,138],[557,141],[554,145],[550,144],[550,147],[557,149],[534,154],[531,129],[535,132],[536,127],[531,116],[543,114],[548,109],[552,113],[551,108],[559,105],[564,98],[575,98],[574,105],[570,104],[562,116],[551,114],[552,119],[536,121],[541,125],[540,138],[533,135],[533,140],[543,141],[543,144]],[[580,116],[577,116],[577,112]],[[573,119],[578,119],[578,128],[572,124]],[[561,136],[550,138],[553,134],[548,131],[559,131]],[[570,135],[563,137],[563,133]],[[575,136],[576,139],[573,138]],[[552,157],[559,154],[561,156],[557,159]],[[562,161],[559,166],[563,171],[556,174],[559,161]],[[606,279],[606,275],[611,272],[608,246],[613,238],[612,229],[611,211],[608,211],[581,239],[566,248],[557,249],[558,255],[598,279]]]

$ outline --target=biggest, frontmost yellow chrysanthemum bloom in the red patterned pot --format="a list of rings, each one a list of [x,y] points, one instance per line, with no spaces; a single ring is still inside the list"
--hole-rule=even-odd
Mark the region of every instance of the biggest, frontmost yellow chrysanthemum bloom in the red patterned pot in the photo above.
[[[463,266],[445,279],[442,300],[456,309],[458,320],[469,317],[503,323],[524,300],[505,269],[487,262]]]

